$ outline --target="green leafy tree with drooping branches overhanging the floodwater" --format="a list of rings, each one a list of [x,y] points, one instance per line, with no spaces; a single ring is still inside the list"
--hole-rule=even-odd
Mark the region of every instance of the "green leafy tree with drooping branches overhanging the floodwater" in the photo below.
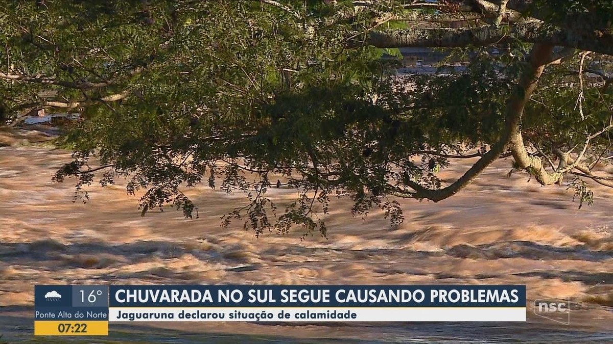
[[[585,181],[613,186],[593,171],[611,158],[612,21],[607,0],[1,1],[0,109],[82,114],[55,176],[76,197],[125,177],[143,215],[192,217],[181,189],[204,182],[245,192],[224,223],[257,234],[325,235],[332,196],[400,222],[394,197],[444,200],[509,155],[590,203]],[[406,47],[447,58],[398,76]],[[280,185],[300,196],[278,210]]]

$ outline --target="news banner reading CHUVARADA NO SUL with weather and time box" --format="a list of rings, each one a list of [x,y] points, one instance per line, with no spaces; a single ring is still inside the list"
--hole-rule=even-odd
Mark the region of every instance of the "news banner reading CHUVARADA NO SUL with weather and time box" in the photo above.
[[[118,321],[526,321],[525,285],[37,285],[35,335]]]

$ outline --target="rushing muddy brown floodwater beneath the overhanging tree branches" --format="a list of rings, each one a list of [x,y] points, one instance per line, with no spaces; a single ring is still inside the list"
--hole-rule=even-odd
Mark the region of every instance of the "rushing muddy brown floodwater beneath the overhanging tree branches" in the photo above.
[[[257,239],[219,217],[243,195],[186,192],[199,219],[178,211],[140,217],[123,185],[51,182],[67,151],[32,144],[39,132],[0,132],[0,335],[29,340],[36,284],[520,284],[526,323],[111,324],[115,342],[613,342],[613,190],[593,185],[578,208],[565,186],[541,187],[500,160],[440,203],[400,200],[405,222],[351,217],[334,200],[328,238],[302,231]],[[5,143],[5,144],[1,144]],[[441,173],[451,180],[474,160]],[[603,167],[604,168],[604,167]],[[613,171],[613,170],[612,170]],[[277,203],[295,191],[272,189]],[[531,302],[571,298],[571,323],[533,315]],[[104,342],[101,340],[100,342]]]

